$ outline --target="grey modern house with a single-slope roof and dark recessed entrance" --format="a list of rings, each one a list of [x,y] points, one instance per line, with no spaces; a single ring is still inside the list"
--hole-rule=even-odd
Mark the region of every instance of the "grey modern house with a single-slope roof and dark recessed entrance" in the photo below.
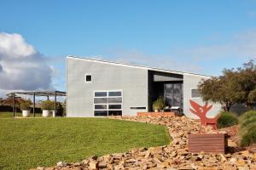
[[[136,116],[153,111],[159,96],[169,106],[178,106],[185,116],[198,118],[189,100],[204,105],[197,84],[209,76],[169,71],[99,59],[67,56],[67,116]],[[220,105],[212,104],[208,117]],[[201,108],[200,108],[201,109]]]

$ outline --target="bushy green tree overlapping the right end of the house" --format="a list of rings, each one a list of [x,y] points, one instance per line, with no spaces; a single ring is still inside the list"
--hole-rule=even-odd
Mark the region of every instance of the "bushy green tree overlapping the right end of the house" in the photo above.
[[[256,101],[256,65],[251,60],[236,70],[224,69],[223,76],[203,80],[198,88],[204,101],[218,102],[224,111],[230,111],[234,104],[251,109]]]

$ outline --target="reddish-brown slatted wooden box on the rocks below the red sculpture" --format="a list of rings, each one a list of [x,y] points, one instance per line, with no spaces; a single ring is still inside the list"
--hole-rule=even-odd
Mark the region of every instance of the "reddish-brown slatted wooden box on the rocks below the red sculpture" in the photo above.
[[[228,148],[227,133],[189,134],[189,152],[225,153]]]

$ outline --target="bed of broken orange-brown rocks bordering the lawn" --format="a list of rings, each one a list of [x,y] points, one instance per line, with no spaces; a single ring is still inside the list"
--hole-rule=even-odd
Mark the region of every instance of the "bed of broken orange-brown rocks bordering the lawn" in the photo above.
[[[168,169],[168,170],[256,170],[256,153],[248,150],[237,150],[236,143],[229,141],[229,152],[226,154],[190,153],[188,150],[188,134],[191,133],[224,133],[203,127],[201,123],[185,116],[150,117],[150,116],[115,116],[110,117],[124,121],[156,123],[168,127],[171,144],[136,148],[125,153],[114,153],[106,156],[90,156],[84,161],[67,163],[60,161],[55,167],[37,167],[39,170],[55,169]]]

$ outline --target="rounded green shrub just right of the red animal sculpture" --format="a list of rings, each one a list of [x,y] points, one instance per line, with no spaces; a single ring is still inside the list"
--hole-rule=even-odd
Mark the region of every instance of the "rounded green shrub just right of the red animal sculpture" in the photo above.
[[[217,121],[218,128],[231,127],[238,124],[238,118],[232,112],[224,111],[220,114]]]

